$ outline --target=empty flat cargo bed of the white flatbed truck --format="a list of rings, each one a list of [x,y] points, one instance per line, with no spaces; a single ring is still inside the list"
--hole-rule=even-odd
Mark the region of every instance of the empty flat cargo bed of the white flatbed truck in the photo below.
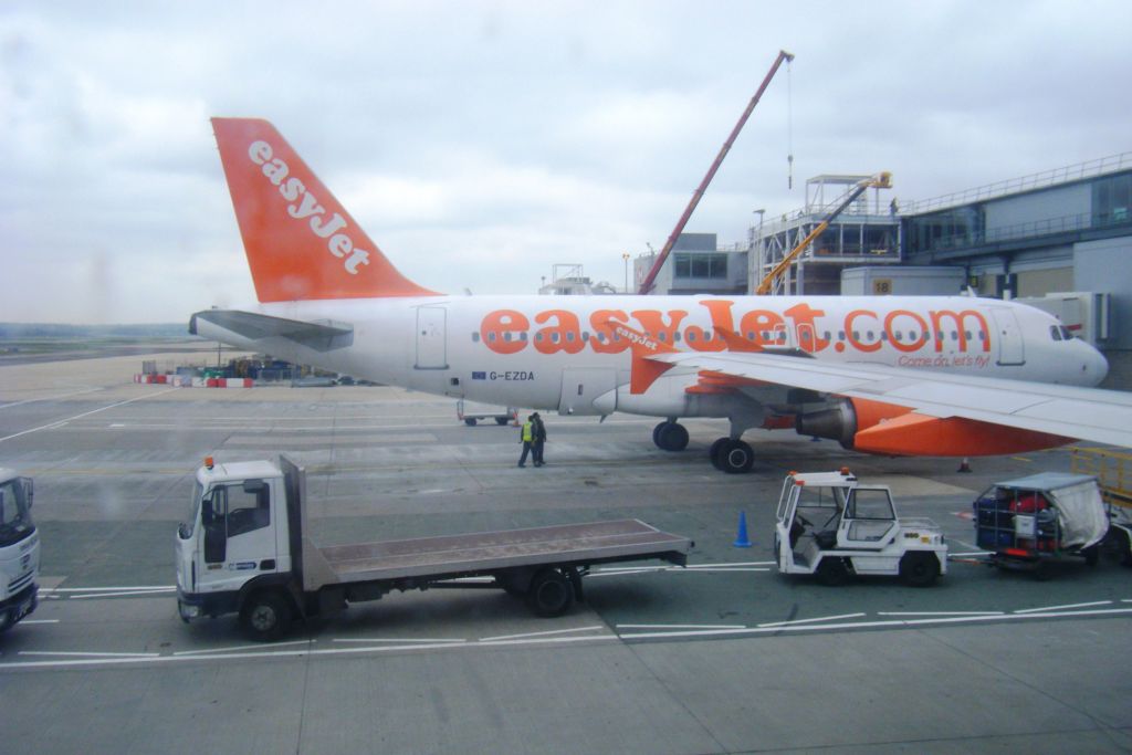
[[[440,538],[391,540],[318,548],[342,582],[368,582],[441,573],[495,570],[552,561],[599,564],[631,557],[664,558],[683,566],[687,538],[661,532],[640,520]]]

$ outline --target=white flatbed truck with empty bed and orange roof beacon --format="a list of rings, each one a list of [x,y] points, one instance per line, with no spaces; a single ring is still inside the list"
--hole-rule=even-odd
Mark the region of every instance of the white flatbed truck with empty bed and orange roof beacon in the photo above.
[[[617,520],[320,547],[310,534],[306,470],[283,455],[277,463],[207,458],[191,508],[177,537],[181,619],[237,614],[258,641],[393,590],[499,587],[539,616],[560,616],[581,600],[591,566],[685,566],[694,544],[640,520]]]

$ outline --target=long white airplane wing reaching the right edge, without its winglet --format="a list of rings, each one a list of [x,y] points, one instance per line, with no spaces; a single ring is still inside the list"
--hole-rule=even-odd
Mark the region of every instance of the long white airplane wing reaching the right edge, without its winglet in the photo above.
[[[1132,394],[1078,386],[829,362],[769,352],[663,352],[649,361],[1132,447]]]

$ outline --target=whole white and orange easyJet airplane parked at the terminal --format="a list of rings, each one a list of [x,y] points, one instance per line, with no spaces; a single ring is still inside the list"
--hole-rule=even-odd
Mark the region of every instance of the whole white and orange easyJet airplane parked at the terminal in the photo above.
[[[445,295],[386,258],[267,121],[212,119],[258,303],[189,331],[355,378],[486,403],[720,418],[714,466],[754,428],[883,455],[979,456],[1088,439],[1132,446],[1132,396],[1053,316],[958,297]]]

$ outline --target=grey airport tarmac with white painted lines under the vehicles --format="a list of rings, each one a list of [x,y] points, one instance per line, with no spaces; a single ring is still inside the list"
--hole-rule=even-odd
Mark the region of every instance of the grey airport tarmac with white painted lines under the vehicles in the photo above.
[[[723,422],[688,421],[671,454],[652,419],[542,412],[548,466],[517,469],[517,430],[465,427],[452,400],[136,385],[140,359],[0,367],[0,465],[35,478],[43,540],[42,603],[0,635],[6,752],[1132,749],[1132,572],[1067,561],[1037,582],[972,546],[975,496],[1067,470],[1066,451],[960,473],[779,431],[748,434],[754,472],[727,475],[706,460]],[[196,466],[278,453],[308,467],[323,543],[635,516],[696,547],[686,569],[594,569],[558,619],[430,591],[272,645],[232,617],[182,624],[173,542]],[[783,475],[843,465],[970,556],[929,589],[777,574]]]

